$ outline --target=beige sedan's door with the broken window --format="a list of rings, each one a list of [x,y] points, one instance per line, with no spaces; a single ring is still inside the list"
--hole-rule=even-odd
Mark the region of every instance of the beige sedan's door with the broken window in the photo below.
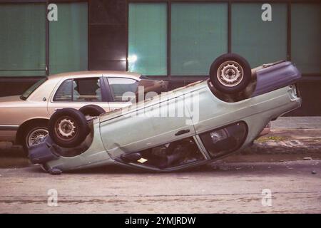
[[[106,86],[101,76],[65,78],[51,96],[48,112],[52,115],[59,108],[79,109],[89,104],[110,111]]]

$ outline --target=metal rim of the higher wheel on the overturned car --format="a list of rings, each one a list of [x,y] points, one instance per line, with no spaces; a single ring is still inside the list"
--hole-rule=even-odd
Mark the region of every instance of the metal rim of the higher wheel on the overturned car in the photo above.
[[[218,68],[218,81],[227,87],[238,86],[243,80],[244,71],[242,66],[235,61],[225,61]]]

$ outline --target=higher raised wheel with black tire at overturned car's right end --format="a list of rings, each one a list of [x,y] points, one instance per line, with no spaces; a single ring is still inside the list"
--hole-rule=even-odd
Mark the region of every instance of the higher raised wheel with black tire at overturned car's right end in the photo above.
[[[239,93],[250,84],[250,64],[238,54],[223,54],[210,66],[210,81],[222,93]]]

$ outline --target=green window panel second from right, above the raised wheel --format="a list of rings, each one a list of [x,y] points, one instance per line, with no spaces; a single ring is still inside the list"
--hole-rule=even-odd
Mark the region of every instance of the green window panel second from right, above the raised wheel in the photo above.
[[[271,4],[272,21],[263,21],[263,4],[232,4],[232,52],[252,68],[287,59],[287,6]]]

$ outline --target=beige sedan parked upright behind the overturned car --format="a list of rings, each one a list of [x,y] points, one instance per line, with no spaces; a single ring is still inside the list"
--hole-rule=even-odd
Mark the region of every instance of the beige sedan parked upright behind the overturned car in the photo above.
[[[167,89],[168,83],[122,71],[83,71],[48,76],[23,95],[0,98],[0,141],[16,142],[27,149],[48,134],[47,124],[56,109],[79,109],[94,104],[109,112],[128,105],[123,94],[137,93],[138,86],[144,86],[145,92],[160,93]]]

